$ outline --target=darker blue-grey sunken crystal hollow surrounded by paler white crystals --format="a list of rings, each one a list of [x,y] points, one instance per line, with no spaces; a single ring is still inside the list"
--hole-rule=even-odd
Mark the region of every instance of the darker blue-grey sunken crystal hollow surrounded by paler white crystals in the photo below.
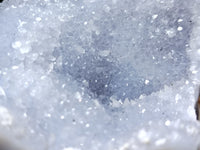
[[[145,8],[148,3],[135,1],[100,3],[94,10],[98,14],[93,15],[90,9],[97,3],[86,3],[63,25],[60,55],[64,73],[80,83],[86,80],[87,88],[105,101],[110,96],[124,101],[149,95],[187,77],[186,49],[192,24],[186,2],[177,1],[168,9],[154,4]],[[108,54],[102,56],[105,51]]]

